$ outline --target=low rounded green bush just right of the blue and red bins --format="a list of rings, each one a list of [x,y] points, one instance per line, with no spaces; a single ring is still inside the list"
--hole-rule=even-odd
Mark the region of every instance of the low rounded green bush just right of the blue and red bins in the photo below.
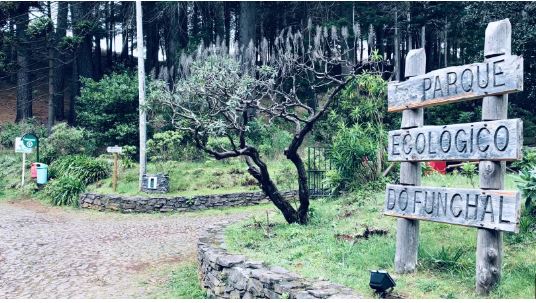
[[[109,174],[110,165],[108,163],[83,155],[66,156],[50,165],[52,178],[70,176],[79,179],[86,185],[104,179]]]

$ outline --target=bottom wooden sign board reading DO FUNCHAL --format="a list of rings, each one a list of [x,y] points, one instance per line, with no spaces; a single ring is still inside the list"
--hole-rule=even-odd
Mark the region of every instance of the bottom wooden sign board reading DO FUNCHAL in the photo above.
[[[518,192],[388,185],[385,197],[388,216],[519,231]]]

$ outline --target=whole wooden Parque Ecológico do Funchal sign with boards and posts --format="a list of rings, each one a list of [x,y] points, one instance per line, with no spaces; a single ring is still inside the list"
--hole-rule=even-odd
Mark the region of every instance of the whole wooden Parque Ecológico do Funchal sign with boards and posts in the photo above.
[[[415,271],[419,220],[478,228],[476,291],[501,277],[502,231],[518,232],[520,195],[505,191],[505,160],[522,158],[523,123],[507,119],[508,93],[523,90],[523,58],[511,55],[508,19],[486,28],[485,61],[425,73],[424,49],[409,51],[404,82],[388,86],[388,110],[402,111],[389,132],[388,159],[400,163],[400,185],[388,185],[384,214],[398,217],[395,270]],[[423,108],[483,97],[482,122],[423,126]],[[419,161],[479,160],[480,189],[422,187]]]

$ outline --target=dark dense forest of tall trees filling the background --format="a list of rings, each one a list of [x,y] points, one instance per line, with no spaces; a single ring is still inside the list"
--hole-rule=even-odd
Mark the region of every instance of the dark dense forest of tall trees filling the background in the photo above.
[[[49,129],[57,121],[76,125],[81,78],[99,80],[135,69],[134,4],[2,2],[0,77],[9,84],[6,90],[16,89],[16,120],[32,117],[34,85],[46,79],[48,121],[43,122]],[[526,143],[534,144],[535,13],[532,2],[144,2],[145,70],[172,86],[180,77],[181,54],[200,44],[223,43],[235,52],[250,41],[270,46],[282,30],[313,24],[347,27],[357,38],[355,60],[366,61],[377,50],[394,71],[390,78],[400,79],[401,62],[412,48],[426,49],[427,71],[483,60],[485,26],[510,18],[513,53],[525,58],[525,91],[511,96],[510,116],[524,118]],[[427,110],[425,122],[478,120],[475,105],[479,102]]]

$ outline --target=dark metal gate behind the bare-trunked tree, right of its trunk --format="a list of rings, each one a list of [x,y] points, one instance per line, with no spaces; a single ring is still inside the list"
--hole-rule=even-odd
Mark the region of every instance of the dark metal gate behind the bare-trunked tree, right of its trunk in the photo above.
[[[325,147],[307,148],[307,183],[310,197],[325,197],[330,190],[324,184],[326,172],[331,169],[331,150]]]

